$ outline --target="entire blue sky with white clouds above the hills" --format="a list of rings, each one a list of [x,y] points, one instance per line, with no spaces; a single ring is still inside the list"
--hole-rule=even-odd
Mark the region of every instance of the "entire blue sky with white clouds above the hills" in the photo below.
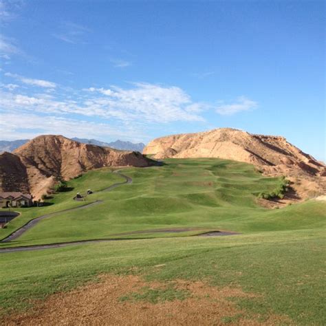
[[[325,160],[324,1],[0,1],[1,139],[233,127]]]

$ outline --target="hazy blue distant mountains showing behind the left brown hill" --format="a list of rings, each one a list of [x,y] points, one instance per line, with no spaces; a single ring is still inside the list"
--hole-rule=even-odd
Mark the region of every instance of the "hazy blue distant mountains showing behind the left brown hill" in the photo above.
[[[133,142],[124,142],[122,140],[116,140],[116,142],[100,142],[100,140],[96,139],[85,139],[85,138],[72,138],[76,142],[81,142],[83,144],[91,144],[96,146],[104,146],[104,147],[111,147],[112,149],[120,149],[124,151],[138,151],[142,153],[145,144],[142,142],[133,143]],[[2,152],[12,152],[14,149],[18,149],[18,147],[22,146],[28,139],[21,139],[21,140],[0,140],[0,153]]]

